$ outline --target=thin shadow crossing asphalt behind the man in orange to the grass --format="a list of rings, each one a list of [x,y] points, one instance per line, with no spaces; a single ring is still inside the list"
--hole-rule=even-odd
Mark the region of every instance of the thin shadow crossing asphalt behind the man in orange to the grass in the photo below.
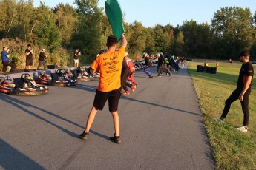
[[[84,85],[84,84],[79,84],[77,86],[73,86],[73,88],[86,90],[88,92],[95,92],[97,87],[96,86],[88,86],[88,85]],[[176,109],[176,108],[170,107],[170,106],[163,106],[163,105],[160,105],[160,104],[157,104],[157,103],[150,103],[148,101],[140,101],[140,100],[137,100],[137,99],[134,99],[134,98],[128,98],[127,96],[124,96],[124,95],[122,95],[121,98],[123,98],[125,100],[136,101],[136,102],[139,102],[139,103],[149,104],[149,105],[152,105],[152,106],[159,106],[159,107],[163,107],[165,109],[173,109],[173,110],[176,110],[176,111],[179,111],[179,112],[184,112],[184,113],[188,113],[188,114],[192,114],[192,115],[202,116],[200,113],[188,112],[188,111],[185,111],[185,110],[182,110],[182,109]]]

